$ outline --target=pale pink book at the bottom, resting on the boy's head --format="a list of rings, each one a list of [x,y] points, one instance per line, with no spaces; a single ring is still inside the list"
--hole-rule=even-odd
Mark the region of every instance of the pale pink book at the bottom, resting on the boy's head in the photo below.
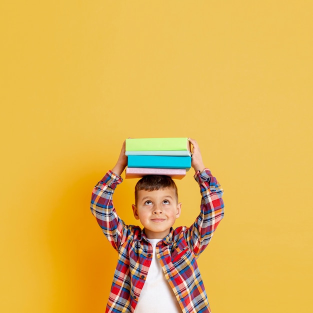
[[[186,169],[126,167],[125,178],[141,178],[144,175],[167,175],[172,178],[181,179],[186,175]]]

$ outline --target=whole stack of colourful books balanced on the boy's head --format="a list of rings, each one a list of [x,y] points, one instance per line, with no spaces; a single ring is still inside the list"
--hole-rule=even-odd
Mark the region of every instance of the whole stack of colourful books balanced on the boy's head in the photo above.
[[[181,179],[191,167],[190,142],[178,138],[128,138],[126,178],[168,175]]]

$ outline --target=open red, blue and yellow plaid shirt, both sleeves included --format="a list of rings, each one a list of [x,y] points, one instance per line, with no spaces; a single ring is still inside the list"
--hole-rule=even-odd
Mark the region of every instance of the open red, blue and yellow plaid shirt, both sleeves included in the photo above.
[[[223,217],[223,190],[209,169],[194,175],[202,195],[200,213],[190,227],[171,228],[157,243],[158,258],[182,312],[210,312],[196,258]],[[140,227],[117,215],[112,195],[122,178],[108,171],[94,187],[91,212],[118,251],[106,312],[134,312],[152,258],[152,245]]]

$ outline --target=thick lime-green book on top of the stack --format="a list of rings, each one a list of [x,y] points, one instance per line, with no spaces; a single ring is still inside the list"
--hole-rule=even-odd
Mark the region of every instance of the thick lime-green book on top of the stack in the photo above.
[[[127,138],[126,155],[132,154],[131,151],[158,151],[158,155],[159,151],[186,151],[189,154],[190,142],[187,137]]]

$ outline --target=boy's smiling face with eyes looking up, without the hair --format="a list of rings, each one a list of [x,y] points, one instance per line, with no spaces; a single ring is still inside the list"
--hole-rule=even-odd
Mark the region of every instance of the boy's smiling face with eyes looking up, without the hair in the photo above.
[[[132,204],[133,215],[144,227],[147,238],[163,239],[180,215],[181,203],[177,203],[175,190],[139,190],[137,204]]]

